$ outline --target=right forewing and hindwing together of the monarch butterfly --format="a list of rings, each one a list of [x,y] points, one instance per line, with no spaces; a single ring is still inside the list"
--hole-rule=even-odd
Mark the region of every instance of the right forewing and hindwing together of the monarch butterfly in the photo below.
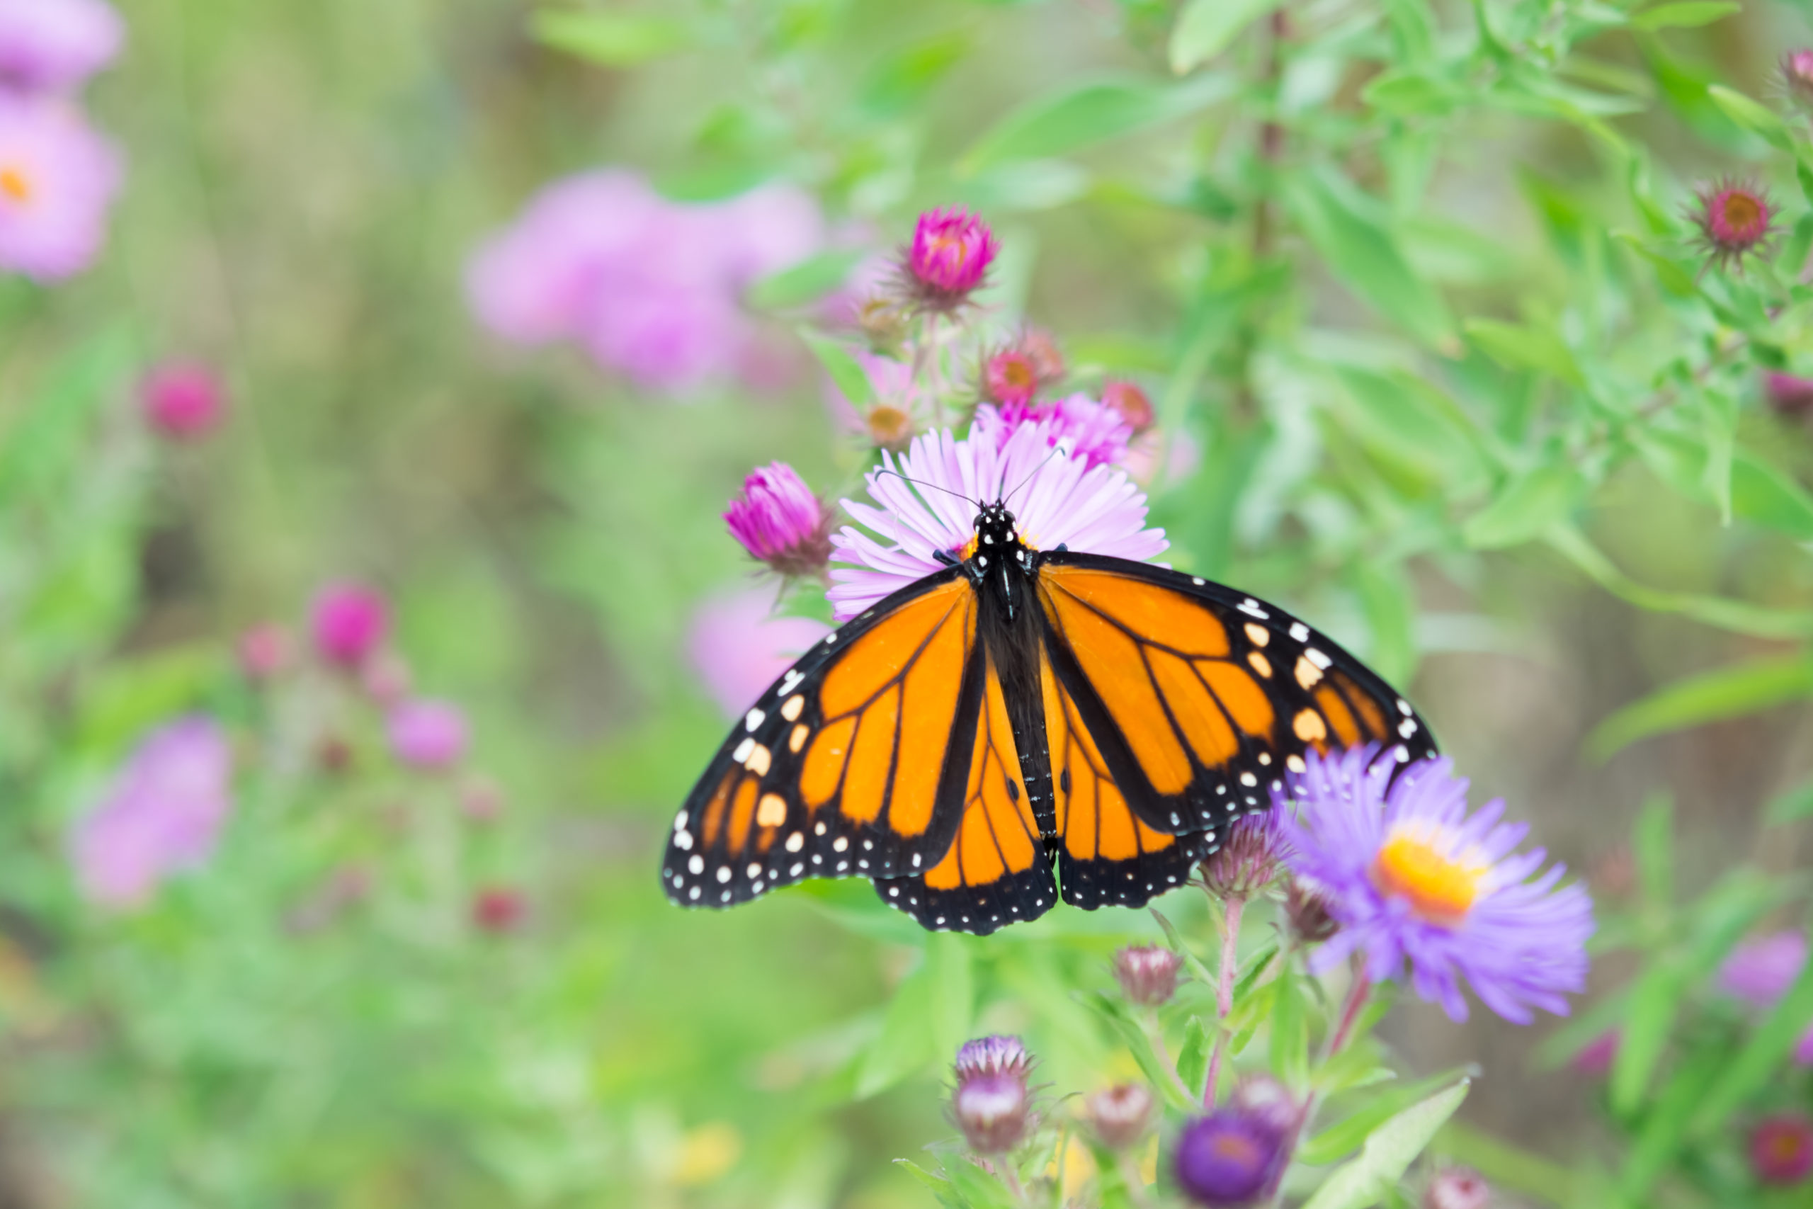
[[[1360,660],[1220,584],[1046,553],[1039,602],[1066,903],[1144,903],[1180,883],[1311,750],[1436,752],[1409,701]]]

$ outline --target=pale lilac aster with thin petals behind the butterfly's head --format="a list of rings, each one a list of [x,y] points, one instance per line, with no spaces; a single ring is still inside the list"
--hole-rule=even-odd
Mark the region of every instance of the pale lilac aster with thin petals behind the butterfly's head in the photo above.
[[[1164,529],[1146,527],[1140,489],[1111,466],[1053,457],[1050,435],[1048,424],[1023,424],[1004,442],[992,435],[957,440],[939,430],[914,439],[899,459],[883,451],[883,468],[867,475],[868,497],[879,508],[845,500],[861,529],[845,526],[830,538],[834,558],[856,564],[830,571],[827,595],[838,620],[941,571],[936,551],[966,556],[977,502],[1001,497],[1017,518],[1019,538],[1033,549],[1068,546],[1120,558],[1162,553]]]

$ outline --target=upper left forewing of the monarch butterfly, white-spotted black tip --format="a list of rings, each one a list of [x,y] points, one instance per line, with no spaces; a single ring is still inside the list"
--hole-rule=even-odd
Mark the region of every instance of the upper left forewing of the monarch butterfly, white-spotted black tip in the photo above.
[[[934,868],[968,796],[975,609],[961,573],[926,576],[781,674],[674,816],[667,897],[731,906],[805,877]]]

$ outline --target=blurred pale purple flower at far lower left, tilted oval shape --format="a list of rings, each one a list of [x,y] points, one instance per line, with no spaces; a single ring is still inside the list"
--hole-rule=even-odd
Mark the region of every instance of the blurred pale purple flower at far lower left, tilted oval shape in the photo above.
[[[201,865],[232,810],[232,747],[212,718],[152,730],[74,832],[82,894],[138,906],[170,874]]]

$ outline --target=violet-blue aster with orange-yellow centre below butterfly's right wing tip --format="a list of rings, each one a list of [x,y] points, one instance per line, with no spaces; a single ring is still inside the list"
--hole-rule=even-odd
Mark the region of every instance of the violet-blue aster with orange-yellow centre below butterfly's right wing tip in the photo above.
[[[1541,848],[1514,852],[1528,827],[1501,823],[1503,801],[1469,817],[1452,761],[1427,759],[1392,781],[1396,767],[1369,745],[1313,754],[1291,774],[1302,817],[1285,825],[1287,859],[1340,924],[1311,968],[1360,952],[1382,982],[1409,962],[1416,993],[1456,1020],[1467,1019],[1463,979],[1507,1020],[1528,1024],[1530,1008],[1566,1015],[1563,993],[1586,982],[1592,899],[1557,888],[1561,865],[1536,875]]]

